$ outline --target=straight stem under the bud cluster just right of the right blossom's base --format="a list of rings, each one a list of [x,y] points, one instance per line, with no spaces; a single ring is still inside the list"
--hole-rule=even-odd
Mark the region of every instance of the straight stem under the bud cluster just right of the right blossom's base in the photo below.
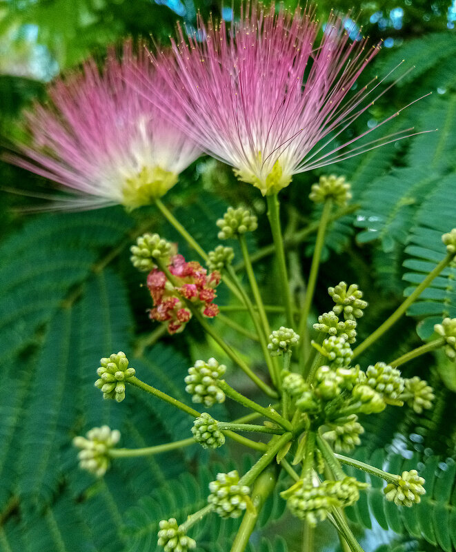
[[[328,226],[331,209],[333,208],[333,201],[328,199],[324,203],[323,212],[321,212],[321,218],[319,220],[319,227],[317,232],[317,241],[315,242],[315,249],[313,251],[312,265],[310,265],[309,280],[306,289],[306,297],[304,299],[304,307],[302,309],[301,318],[299,320],[299,327],[297,333],[301,336],[301,365],[304,369],[304,362],[310,354],[310,347],[308,343],[307,326],[308,318],[310,314],[310,307],[312,306],[313,294],[315,292],[315,285],[317,284],[318,269],[320,265],[321,252],[324,246],[324,237],[326,233],[326,227]]]

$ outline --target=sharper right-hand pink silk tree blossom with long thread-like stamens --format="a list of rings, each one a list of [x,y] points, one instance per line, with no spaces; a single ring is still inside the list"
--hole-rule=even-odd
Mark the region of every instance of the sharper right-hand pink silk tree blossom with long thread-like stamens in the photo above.
[[[253,3],[229,29],[225,21],[206,26],[200,18],[188,38],[178,27],[170,52],[151,54],[170,88],[159,102],[203,150],[263,195],[288,186],[293,174],[381,145],[343,149],[368,130],[329,153],[324,149],[381,95],[372,94],[379,85],[374,79],[370,90],[346,99],[379,46],[368,48],[361,37],[351,41],[335,14],[318,42],[314,14],[314,8],[276,13],[274,4],[266,10]]]

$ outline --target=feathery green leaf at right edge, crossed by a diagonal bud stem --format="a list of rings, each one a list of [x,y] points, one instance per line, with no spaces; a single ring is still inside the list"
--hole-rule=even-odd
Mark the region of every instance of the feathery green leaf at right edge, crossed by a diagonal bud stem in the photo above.
[[[449,232],[456,223],[456,174],[449,174],[437,183],[433,193],[419,209],[417,225],[410,237],[406,253],[410,255],[404,267],[413,272],[404,274],[404,280],[412,284],[405,291],[413,292],[417,285],[445,256],[442,234]],[[418,332],[422,338],[433,333],[436,323],[445,316],[456,316],[456,263],[451,263],[437,276],[408,309],[410,316],[418,316],[421,321]]]

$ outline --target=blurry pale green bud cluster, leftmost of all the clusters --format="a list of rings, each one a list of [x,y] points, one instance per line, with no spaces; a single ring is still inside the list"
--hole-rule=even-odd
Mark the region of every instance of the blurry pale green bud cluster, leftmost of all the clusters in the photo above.
[[[78,436],[73,444],[81,451],[77,457],[79,467],[93,473],[97,477],[104,476],[110,465],[109,451],[120,440],[120,431],[110,429],[107,425],[94,427],[86,433],[86,438]]]

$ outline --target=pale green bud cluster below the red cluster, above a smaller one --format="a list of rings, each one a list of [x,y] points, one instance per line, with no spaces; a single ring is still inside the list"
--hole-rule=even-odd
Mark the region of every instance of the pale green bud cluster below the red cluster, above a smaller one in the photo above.
[[[224,402],[225,393],[217,382],[225,374],[226,366],[210,358],[208,362],[197,360],[195,366],[188,369],[188,376],[184,379],[186,391],[192,395],[193,402],[202,402],[206,407],[212,407],[216,402]]]

